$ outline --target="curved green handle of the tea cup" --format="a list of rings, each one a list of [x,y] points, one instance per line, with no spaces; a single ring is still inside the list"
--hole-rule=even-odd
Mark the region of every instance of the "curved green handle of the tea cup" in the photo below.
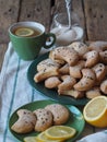
[[[49,45],[46,45],[47,39],[49,39],[50,37],[52,37],[51,42],[49,42]],[[46,34],[46,43],[44,45],[44,48],[46,48],[46,49],[50,48],[56,43],[56,35],[52,33]]]

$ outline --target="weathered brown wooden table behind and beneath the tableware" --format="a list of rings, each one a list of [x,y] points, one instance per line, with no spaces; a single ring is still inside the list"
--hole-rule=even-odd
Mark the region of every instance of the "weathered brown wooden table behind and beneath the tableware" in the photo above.
[[[84,40],[107,40],[107,1],[72,0],[72,10],[81,19]],[[52,16],[66,11],[64,0],[0,0],[0,69],[8,47],[8,28],[19,21],[36,21],[50,28]],[[82,135],[100,131],[86,123]]]

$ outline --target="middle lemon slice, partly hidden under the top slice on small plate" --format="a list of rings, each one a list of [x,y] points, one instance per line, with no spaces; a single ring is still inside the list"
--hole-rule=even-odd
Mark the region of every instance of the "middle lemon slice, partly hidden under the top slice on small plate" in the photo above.
[[[39,134],[37,135],[37,140],[38,140],[39,142],[61,142],[61,140],[51,140],[51,139],[49,139],[49,138],[45,134],[45,132],[39,133]]]

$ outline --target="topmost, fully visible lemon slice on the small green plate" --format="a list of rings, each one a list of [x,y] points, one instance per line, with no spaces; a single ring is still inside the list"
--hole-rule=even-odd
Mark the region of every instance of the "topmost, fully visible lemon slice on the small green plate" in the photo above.
[[[51,140],[67,140],[74,137],[76,130],[67,126],[54,126],[45,131],[45,134]]]

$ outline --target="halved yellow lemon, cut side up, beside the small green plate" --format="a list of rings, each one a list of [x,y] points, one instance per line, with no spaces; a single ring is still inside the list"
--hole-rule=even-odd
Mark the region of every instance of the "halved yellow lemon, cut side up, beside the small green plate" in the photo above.
[[[92,126],[107,127],[107,97],[97,96],[91,99],[83,109],[83,116]]]

